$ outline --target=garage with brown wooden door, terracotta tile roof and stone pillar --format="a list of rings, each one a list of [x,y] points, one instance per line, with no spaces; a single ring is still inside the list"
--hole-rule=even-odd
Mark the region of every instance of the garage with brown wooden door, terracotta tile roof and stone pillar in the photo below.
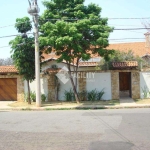
[[[0,101],[22,101],[24,84],[14,66],[0,66]]]

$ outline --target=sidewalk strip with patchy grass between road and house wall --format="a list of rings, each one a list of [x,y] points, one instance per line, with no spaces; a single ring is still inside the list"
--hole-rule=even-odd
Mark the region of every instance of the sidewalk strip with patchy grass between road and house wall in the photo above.
[[[123,108],[150,108],[150,104],[136,104],[135,102],[126,102],[116,105],[100,105],[97,102],[88,103],[49,103],[48,105],[42,105],[41,107],[36,106],[21,106],[21,107],[11,107],[9,106],[14,102],[0,101],[0,110],[71,110],[71,109],[123,109]]]

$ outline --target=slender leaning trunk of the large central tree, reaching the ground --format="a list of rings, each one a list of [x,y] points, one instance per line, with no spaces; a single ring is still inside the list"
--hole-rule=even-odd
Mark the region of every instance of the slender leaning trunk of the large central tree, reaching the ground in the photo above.
[[[76,90],[76,87],[75,87],[75,84],[74,84],[74,81],[73,81],[73,78],[72,78],[72,75],[71,75],[70,64],[67,64],[67,66],[68,66],[69,78],[70,78],[70,81],[71,81],[71,85],[72,85],[72,88],[73,88],[73,92],[74,92],[74,95],[75,95],[76,102],[80,103],[78,93],[77,93],[77,90]]]

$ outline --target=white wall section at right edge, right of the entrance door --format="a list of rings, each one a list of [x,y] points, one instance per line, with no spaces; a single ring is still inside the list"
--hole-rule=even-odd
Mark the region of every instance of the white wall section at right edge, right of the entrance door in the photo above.
[[[146,88],[147,91],[150,91],[150,72],[140,72],[140,96],[144,98],[142,88]],[[148,97],[150,98],[150,94]]]

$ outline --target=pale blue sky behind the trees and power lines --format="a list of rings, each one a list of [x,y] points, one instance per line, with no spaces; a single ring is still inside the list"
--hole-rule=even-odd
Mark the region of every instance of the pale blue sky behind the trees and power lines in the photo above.
[[[43,0],[38,0],[40,13],[45,10]],[[107,17],[108,24],[115,29],[145,28],[143,23],[150,22],[149,0],[85,0],[85,5],[95,3],[102,8],[101,16]],[[28,0],[1,0],[0,5],[0,58],[9,58],[11,48],[9,41],[15,37],[3,36],[16,35],[14,28],[16,18],[30,17],[27,13]],[[130,19],[113,19],[130,18]],[[139,19],[133,19],[139,18]],[[109,37],[109,43],[144,42],[147,30],[114,30]],[[138,39],[130,39],[138,38]]]

